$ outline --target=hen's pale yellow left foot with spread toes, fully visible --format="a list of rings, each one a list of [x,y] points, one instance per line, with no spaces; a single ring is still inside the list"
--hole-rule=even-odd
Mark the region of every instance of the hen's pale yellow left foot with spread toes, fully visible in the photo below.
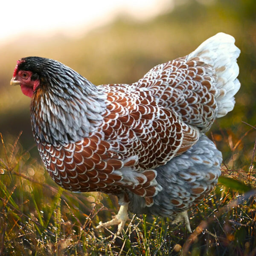
[[[118,213],[113,217],[111,221],[107,221],[105,223],[99,222],[99,225],[96,228],[101,227],[110,227],[112,225],[118,225],[117,232],[114,235],[113,239],[116,239],[125,226],[125,222],[128,220],[128,204],[121,205]]]

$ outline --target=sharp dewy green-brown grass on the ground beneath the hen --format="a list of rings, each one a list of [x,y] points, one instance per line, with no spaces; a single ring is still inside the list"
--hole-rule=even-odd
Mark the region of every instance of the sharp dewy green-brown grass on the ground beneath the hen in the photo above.
[[[130,213],[115,241],[116,227],[95,229],[117,211],[113,196],[61,189],[19,138],[1,135],[0,255],[256,255],[255,145],[244,147],[255,128],[243,127],[240,137],[211,134],[232,156],[216,189],[189,212],[192,234],[168,218]]]

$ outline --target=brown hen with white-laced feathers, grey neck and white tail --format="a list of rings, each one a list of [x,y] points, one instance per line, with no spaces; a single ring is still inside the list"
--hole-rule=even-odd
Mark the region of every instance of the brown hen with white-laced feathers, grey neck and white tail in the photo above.
[[[11,84],[31,97],[32,132],[49,175],[64,189],[116,195],[128,210],[185,221],[221,174],[205,132],[232,111],[240,50],[218,33],[194,52],[152,68],[133,84],[95,86],[58,61],[17,61]]]

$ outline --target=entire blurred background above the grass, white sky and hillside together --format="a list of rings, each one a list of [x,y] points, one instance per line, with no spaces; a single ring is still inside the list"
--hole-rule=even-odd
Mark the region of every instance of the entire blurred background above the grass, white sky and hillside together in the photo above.
[[[24,0],[6,2],[1,11],[0,133],[6,138],[23,131],[20,142],[34,157],[30,99],[9,85],[17,60],[29,55],[61,61],[96,85],[132,83],[155,65],[225,32],[241,49],[241,89],[234,111],[212,129],[224,159],[250,129],[243,122],[256,124],[255,0]],[[227,140],[218,137],[223,131]],[[255,132],[243,144],[250,152],[254,140]]]

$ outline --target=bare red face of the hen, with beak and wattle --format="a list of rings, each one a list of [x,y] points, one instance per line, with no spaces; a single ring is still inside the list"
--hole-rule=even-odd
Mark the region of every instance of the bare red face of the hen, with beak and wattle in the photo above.
[[[20,85],[21,91],[30,98],[32,98],[36,88],[40,85],[39,79],[31,80],[32,74],[31,71],[17,70],[16,66],[11,80],[11,84]]]

